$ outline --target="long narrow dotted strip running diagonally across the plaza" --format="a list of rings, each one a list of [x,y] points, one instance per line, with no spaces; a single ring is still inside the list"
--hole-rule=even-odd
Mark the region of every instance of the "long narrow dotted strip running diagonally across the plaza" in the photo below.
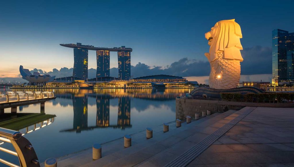
[[[203,139],[200,143],[196,144],[192,148],[185,151],[183,154],[169,162],[165,167],[184,167],[192,162],[197,156],[205,151],[209,146],[216,142],[221,136],[228,132],[233,126],[235,126],[246,115],[251,113],[256,107],[247,107],[247,109],[235,117],[233,120],[225,124],[223,127],[213,132],[211,135]]]

